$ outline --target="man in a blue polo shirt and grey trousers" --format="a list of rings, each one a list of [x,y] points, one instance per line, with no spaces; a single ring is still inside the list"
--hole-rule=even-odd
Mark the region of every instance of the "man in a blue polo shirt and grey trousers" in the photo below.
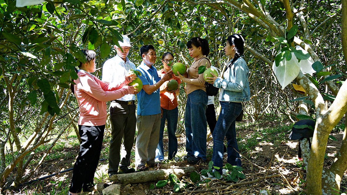
[[[142,76],[142,90],[137,94],[137,136],[135,146],[136,170],[143,171],[148,167],[156,166],[155,150],[159,142],[160,131],[160,89],[159,87],[172,78],[172,70],[164,74],[163,78],[153,66],[156,52],[152,45],[140,48],[142,63],[136,70]],[[147,166],[146,166],[147,164]]]

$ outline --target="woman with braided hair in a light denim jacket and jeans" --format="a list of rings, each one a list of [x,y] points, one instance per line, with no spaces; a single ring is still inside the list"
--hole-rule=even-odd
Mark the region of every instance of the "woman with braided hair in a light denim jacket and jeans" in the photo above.
[[[213,86],[220,88],[219,102],[221,110],[213,131],[212,161],[215,167],[223,167],[223,140],[227,137],[228,160],[231,165],[241,166],[240,154],[236,141],[235,119],[242,112],[242,102],[249,101],[249,69],[245,60],[244,39],[233,34],[227,38],[225,54],[232,57],[228,62],[223,77],[209,77]],[[217,170],[222,174],[222,169]]]

